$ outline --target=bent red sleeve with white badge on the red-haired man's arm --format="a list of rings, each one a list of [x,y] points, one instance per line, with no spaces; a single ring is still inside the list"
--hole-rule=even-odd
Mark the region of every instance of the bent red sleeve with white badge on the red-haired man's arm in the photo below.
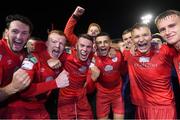
[[[39,72],[37,72],[40,68],[40,62],[37,56],[33,54],[28,56],[28,58],[23,61],[21,68],[28,73],[32,80],[30,86],[20,93],[22,97],[33,97],[57,88],[55,80],[38,83],[33,82],[36,77],[40,76],[38,75]]]

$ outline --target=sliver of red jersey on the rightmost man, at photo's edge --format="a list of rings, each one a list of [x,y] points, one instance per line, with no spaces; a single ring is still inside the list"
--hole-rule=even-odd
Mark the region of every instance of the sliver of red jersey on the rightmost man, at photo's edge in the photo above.
[[[178,80],[180,84],[180,54],[179,52],[176,52],[176,55],[173,58],[174,66],[178,75]]]

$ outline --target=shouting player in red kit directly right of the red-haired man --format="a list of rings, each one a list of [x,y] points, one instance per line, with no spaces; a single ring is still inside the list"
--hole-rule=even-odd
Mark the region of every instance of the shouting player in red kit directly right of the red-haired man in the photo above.
[[[64,68],[70,84],[59,91],[58,119],[92,119],[92,111],[84,87],[92,59],[93,37],[82,34],[76,49],[67,57]]]

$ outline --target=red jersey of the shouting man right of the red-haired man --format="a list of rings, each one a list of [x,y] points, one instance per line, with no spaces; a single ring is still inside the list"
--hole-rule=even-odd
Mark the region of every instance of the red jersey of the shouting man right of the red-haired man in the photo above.
[[[69,72],[69,86],[60,90],[61,95],[73,97],[81,94],[86,82],[90,62],[90,58],[87,61],[79,60],[77,51],[72,49],[72,53],[67,57],[64,65],[65,70]]]

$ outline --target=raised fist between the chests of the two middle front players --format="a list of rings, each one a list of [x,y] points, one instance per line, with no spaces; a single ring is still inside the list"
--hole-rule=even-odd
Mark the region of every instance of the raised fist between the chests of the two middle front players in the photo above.
[[[95,65],[91,66],[90,70],[91,70],[91,79],[95,82],[100,75],[100,70]]]

